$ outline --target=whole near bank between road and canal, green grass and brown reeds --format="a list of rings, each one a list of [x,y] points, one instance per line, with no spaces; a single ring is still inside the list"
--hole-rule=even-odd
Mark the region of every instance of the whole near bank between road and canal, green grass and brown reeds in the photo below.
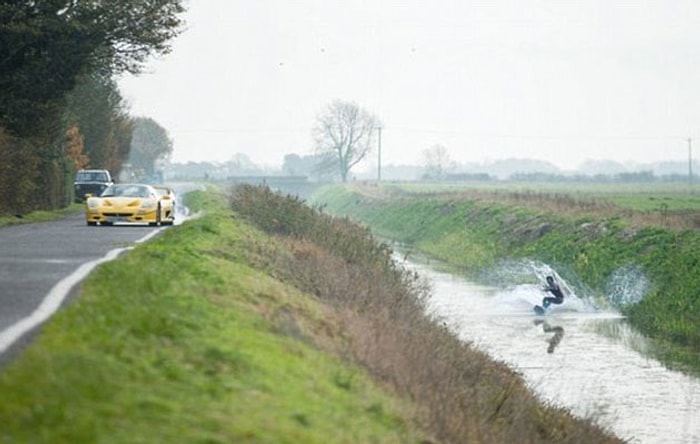
[[[0,372],[0,442],[617,442],[425,319],[365,229],[265,190],[192,193],[91,274]]]

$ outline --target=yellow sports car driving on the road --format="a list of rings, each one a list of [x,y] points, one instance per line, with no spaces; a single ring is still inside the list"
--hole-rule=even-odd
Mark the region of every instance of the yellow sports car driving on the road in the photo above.
[[[159,193],[150,185],[113,184],[99,197],[86,196],[85,220],[88,225],[122,222],[172,225],[175,220],[173,196]]]

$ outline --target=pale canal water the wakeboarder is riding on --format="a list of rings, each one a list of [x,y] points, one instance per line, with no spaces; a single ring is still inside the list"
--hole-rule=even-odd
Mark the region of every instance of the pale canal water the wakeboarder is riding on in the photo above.
[[[645,355],[645,338],[615,311],[594,308],[561,281],[564,304],[536,316],[541,285],[480,286],[424,263],[406,266],[431,282],[431,315],[544,400],[631,443],[700,443],[700,380]]]

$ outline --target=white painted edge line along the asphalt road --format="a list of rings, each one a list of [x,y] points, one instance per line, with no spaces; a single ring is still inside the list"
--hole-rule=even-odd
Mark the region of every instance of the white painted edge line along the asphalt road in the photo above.
[[[151,231],[146,236],[135,241],[134,243],[140,244],[146,242],[156,234],[158,234],[163,228]],[[92,262],[86,262],[80,267],[78,267],[73,273],[61,279],[54,287],[49,291],[49,293],[41,301],[41,304],[26,318],[20,319],[15,324],[6,328],[0,332],[0,354],[4,353],[5,350],[10,348],[19,338],[21,338],[25,333],[37,327],[41,323],[49,319],[56,310],[59,309],[63,301],[68,296],[70,290],[80,281],[85,279],[85,277],[98,265],[109,262],[116,259],[124,251],[133,249],[134,247],[116,248],[109,251],[104,257],[96,259]]]

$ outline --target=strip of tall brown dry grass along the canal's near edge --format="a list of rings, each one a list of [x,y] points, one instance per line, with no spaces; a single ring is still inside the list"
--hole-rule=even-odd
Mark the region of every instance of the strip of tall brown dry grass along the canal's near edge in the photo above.
[[[541,404],[517,374],[429,319],[428,287],[395,265],[365,228],[265,187],[238,186],[230,199],[238,217],[280,236],[290,252],[264,255],[269,262],[260,265],[333,307],[342,337],[330,347],[412,399],[438,441],[619,441]]]

